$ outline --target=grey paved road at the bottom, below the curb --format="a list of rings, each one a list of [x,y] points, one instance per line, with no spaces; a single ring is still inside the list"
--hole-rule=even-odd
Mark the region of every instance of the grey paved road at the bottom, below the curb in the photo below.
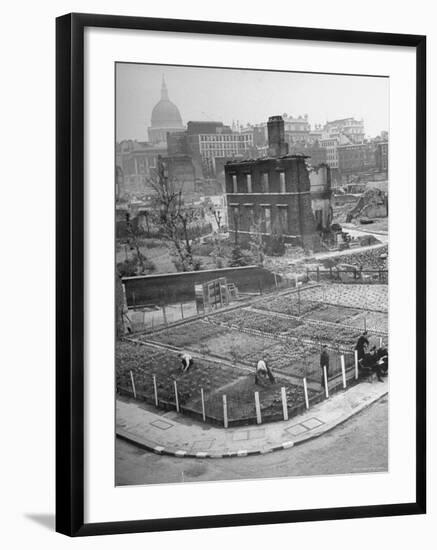
[[[117,485],[254,479],[384,471],[388,400],[377,401],[331,432],[293,449],[261,456],[191,459],[160,456],[117,440]]]

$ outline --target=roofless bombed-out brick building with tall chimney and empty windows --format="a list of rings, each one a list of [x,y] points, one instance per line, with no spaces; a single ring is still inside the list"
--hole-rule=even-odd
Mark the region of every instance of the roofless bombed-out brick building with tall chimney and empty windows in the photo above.
[[[310,168],[308,156],[288,154],[281,116],[270,117],[267,126],[267,157],[225,165],[229,231],[239,239],[281,236],[319,250],[332,220],[330,169]]]

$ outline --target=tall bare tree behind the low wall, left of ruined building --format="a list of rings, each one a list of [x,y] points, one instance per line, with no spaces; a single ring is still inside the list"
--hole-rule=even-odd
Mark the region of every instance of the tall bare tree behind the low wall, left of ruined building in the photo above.
[[[182,270],[193,271],[195,262],[190,232],[200,219],[200,211],[184,203],[182,186],[176,180],[169,180],[160,157],[149,183],[155,191],[152,217],[163,237],[173,244]]]

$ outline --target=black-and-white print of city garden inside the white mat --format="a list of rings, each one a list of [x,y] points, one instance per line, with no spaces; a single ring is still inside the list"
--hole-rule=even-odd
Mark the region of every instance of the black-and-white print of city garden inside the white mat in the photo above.
[[[114,70],[115,484],[389,471],[390,79]]]

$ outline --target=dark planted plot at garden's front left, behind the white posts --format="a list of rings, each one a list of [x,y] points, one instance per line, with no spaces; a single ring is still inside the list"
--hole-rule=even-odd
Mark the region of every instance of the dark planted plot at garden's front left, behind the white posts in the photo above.
[[[211,392],[242,376],[232,367],[206,359],[195,359],[192,367],[182,373],[176,353],[156,350],[144,344],[117,342],[115,352],[117,389],[131,392],[132,371],[137,397],[148,401],[154,400],[153,375],[156,376],[158,398],[170,403],[175,402],[176,380],[181,405],[200,396],[200,388]]]

